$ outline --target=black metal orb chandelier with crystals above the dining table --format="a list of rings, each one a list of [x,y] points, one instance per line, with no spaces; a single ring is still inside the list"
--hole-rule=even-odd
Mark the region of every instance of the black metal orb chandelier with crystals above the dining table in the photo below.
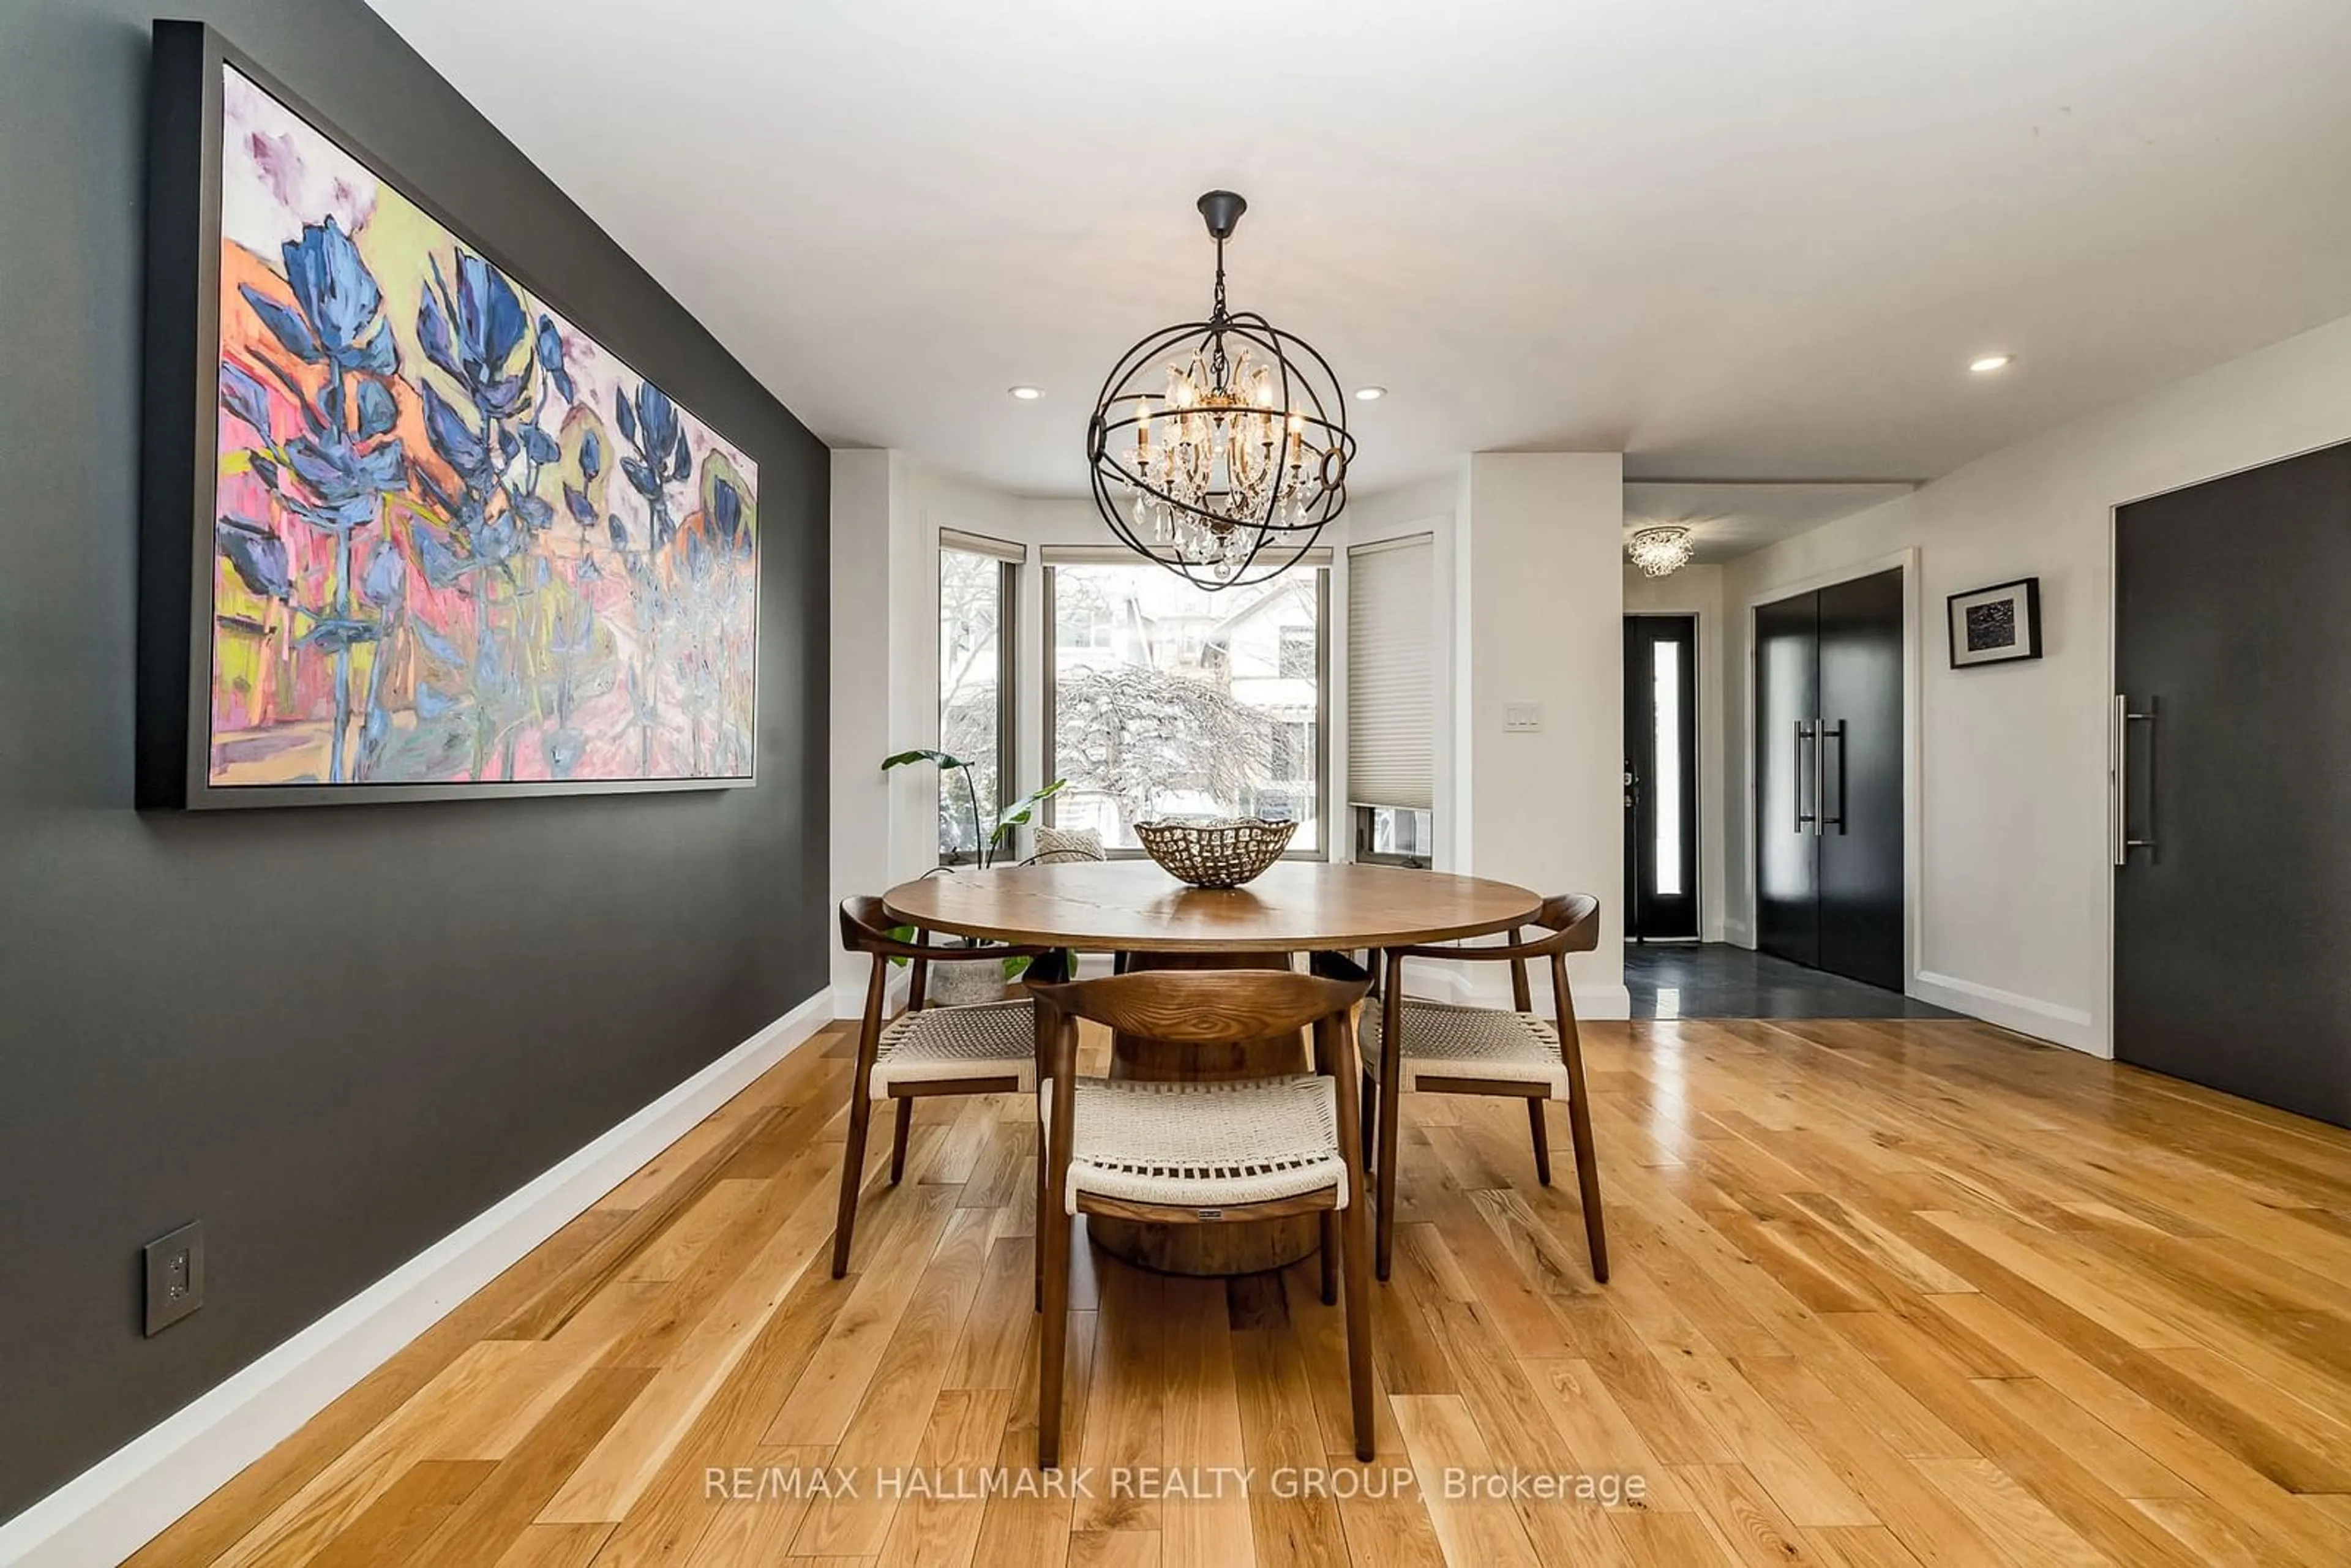
[[[1255,310],[1225,303],[1225,240],[1248,212],[1199,197],[1215,240],[1204,322],[1152,331],[1103,381],[1086,463],[1103,522],[1138,555],[1206,590],[1293,567],[1347,505],[1347,397],[1331,362]]]

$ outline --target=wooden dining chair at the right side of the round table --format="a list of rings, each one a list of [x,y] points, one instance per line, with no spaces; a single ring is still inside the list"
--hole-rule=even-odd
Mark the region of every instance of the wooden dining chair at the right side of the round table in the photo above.
[[[1373,1154],[1378,1182],[1378,1272],[1387,1279],[1396,1241],[1396,1098],[1404,1088],[1455,1095],[1509,1095],[1526,1100],[1526,1126],[1535,1140],[1535,1180],[1552,1185],[1552,1138],[1542,1119],[1547,1100],[1568,1103],[1568,1135],[1575,1140],[1575,1182],[1582,1190],[1585,1246],[1592,1279],[1608,1281],[1608,1237],[1601,1227],[1601,1173],[1592,1150],[1592,1100],[1585,1091],[1585,1048],[1575,1037],[1575,999],[1568,994],[1568,954],[1599,945],[1601,903],[1589,893],[1545,898],[1531,922],[1545,936],[1526,940],[1514,926],[1500,945],[1389,947],[1380,966],[1380,999],[1364,1009],[1366,1126],[1378,1126]],[[1509,964],[1509,1009],[1451,1006],[1404,994],[1406,959],[1469,959]],[[1526,978],[1531,961],[1552,966],[1552,1016],[1533,1009]],[[1317,954],[1324,969],[1335,954]],[[1347,964],[1354,969],[1354,964]],[[1401,1041],[1389,1051],[1387,1041]]]

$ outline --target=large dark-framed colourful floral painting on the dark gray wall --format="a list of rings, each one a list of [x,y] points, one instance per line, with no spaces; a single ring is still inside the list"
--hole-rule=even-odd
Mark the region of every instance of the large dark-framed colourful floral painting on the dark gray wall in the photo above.
[[[139,802],[750,785],[750,454],[212,28],[153,73]]]

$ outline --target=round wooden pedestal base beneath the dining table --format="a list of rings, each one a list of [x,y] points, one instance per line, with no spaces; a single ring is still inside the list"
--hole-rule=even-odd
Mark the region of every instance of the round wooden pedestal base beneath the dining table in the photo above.
[[[1284,954],[1265,952],[1138,952],[1128,969],[1288,969]],[[1274,1034],[1237,1046],[1176,1046],[1136,1034],[1114,1034],[1110,1077],[1143,1081],[1265,1079],[1281,1072],[1312,1072],[1305,1034]],[[1314,1215],[1288,1220],[1237,1220],[1232,1225],[1145,1225],[1089,1215],[1093,1241],[1124,1262],[1159,1274],[1262,1274],[1321,1246],[1321,1222]]]

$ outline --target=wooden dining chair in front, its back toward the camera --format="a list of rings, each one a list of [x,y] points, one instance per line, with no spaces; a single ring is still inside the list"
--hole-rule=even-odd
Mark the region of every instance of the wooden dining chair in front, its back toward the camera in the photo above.
[[[1326,969],[1335,969],[1326,964]],[[1317,1213],[1324,1302],[1347,1274],[1347,1382],[1354,1453],[1373,1458],[1371,1281],[1364,1145],[1357,1133],[1354,1004],[1371,976],[1272,969],[1145,969],[1037,985],[1046,1126],[1037,1211],[1044,1333],[1037,1363],[1037,1465],[1060,1465],[1060,1382],[1070,1326],[1070,1225],[1081,1213],[1147,1225],[1218,1225]],[[1051,1018],[1046,1018],[1051,1013]],[[1232,1046],[1314,1032],[1314,1072],[1265,1079],[1138,1081],[1077,1077],[1077,1023],[1178,1046]],[[1051,1215],[1060,1215],[1053,1222]],[[1340,1237],[1345,1232],[1345,1237]],[[1335,1258],[1333,1258],[1335,1253]]]

